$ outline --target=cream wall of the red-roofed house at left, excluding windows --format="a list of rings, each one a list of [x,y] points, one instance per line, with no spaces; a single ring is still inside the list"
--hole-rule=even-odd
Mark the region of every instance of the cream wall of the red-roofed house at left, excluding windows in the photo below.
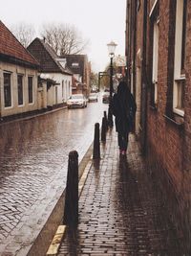
[[[4,72],[11,73],[11,106],[4,105]],[[23,76],[23,105],[18,105],[17,75]],[[32,104],[29,104],[28,76],[32,77]],[[0,61],[0,115],[1,117],[36,110],[37,104],[37,70],[24,68]]]

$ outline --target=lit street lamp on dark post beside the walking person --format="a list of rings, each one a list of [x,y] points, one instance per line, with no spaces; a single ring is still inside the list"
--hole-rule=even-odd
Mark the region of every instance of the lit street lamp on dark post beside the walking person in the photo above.
[[[113,95],[113,58],[115,56],[115,50],[117,47],[117,44],[114,41],[111,41],[107,44],[108,52],[110,56],[110,103],[109,103],[109,109],[108,109],[108,125],[110,128],[114,126],[113,122],[113,115],[111,110],[111,103],[112,103],[112,95]]]

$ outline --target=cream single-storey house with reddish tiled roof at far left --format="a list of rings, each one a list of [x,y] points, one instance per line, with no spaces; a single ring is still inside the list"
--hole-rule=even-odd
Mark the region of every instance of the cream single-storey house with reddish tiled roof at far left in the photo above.
[[[37,109],[38,66],[0,21],[0,117]]]

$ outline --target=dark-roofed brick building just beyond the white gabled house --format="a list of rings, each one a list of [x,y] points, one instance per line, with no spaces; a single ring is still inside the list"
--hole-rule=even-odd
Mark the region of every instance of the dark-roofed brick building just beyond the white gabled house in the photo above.
[[[87,55],[65,55],[67,66],[74,73],[73,93],[90,93],[91,63]]]

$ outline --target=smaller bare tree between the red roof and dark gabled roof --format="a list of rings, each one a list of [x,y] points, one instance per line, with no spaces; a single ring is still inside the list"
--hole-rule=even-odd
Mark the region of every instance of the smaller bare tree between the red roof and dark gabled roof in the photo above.
[[[13,25],[11,27],[11,32],[25,48],[29,46],[35,35],[35,30],[32,24],[23,22]]]

